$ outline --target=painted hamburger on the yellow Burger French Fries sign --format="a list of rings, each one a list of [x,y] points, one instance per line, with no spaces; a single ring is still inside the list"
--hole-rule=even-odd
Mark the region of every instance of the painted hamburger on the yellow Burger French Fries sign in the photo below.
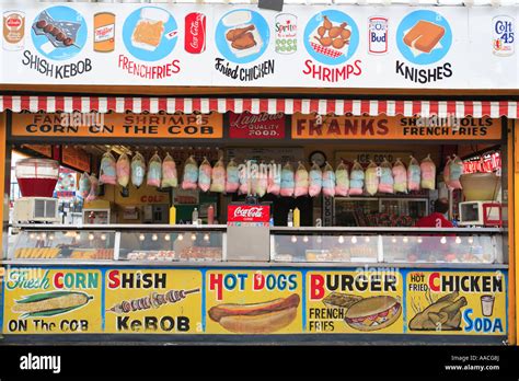
[[[378,331],[393,324],[402,313],[402,304],[393,297],[366,298],[353,304],[344,320],[354,330]]]

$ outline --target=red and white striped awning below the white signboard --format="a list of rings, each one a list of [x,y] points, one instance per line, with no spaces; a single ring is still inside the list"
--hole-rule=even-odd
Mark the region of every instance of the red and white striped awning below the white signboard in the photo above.
[[[14,113],[28,111],[36,113],[92,112],[107,113],[175,113],[228,111],[234,113],[251,112],[258,114],[369,114],[377,116],[420,115],[428,117],[507,116],[517,118],[519,104],[512,101],[372,101],[372,100],[319,100],[319,99],[237,99],[237,97],[124,97],[124,96],[15,96],[0,95],[0,112],[11,109]]]

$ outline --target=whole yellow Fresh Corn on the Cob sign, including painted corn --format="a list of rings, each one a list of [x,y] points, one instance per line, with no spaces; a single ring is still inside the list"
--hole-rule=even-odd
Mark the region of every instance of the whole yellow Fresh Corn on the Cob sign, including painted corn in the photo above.
[[[9,268],[3,333],[100,333],[101,289],[96,269]]]

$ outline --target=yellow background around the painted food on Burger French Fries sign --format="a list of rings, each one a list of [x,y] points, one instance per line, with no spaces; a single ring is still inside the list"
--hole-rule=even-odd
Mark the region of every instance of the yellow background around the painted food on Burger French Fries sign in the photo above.
[[[331,290],[327,277],[332,279],[337,289]],[[377,278],[379,277],[379,278]],[[357,279],[357,280],[356,280]],[[380,279],[380,280],[377,280]],[[344,280],[346,282],[344,282]],[[387,281],[388,280],[388,281]],[[366,286],[355,286],[362,284]],[[305,308],[305,333],[403,333],[403,277],[400,272],[308,272],[307,273],[307,308]],[[331,286],[332,284],[330,284]],[[351,285],[343,289],[342,285]],[[380,286],[379,286],[380,285]],[[384,286],[385,285],[385,286]],[[390,297],[400,303],[400,316],[394,323],[380,330],[360,331],[351,327],[344,318],[341,308],[331,308],[323,300],[332,292],[358,297],[367,300],[371,297]],[[328,314],[330,313],[330,314]],[[369,310],[366,315],[370,315]]]

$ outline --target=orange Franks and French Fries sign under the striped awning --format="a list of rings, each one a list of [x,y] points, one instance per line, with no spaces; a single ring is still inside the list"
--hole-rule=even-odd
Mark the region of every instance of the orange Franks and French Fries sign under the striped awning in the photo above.
[[[498,140],[500,137],[500,120],[491,118],[292,115],[292,139]]]

